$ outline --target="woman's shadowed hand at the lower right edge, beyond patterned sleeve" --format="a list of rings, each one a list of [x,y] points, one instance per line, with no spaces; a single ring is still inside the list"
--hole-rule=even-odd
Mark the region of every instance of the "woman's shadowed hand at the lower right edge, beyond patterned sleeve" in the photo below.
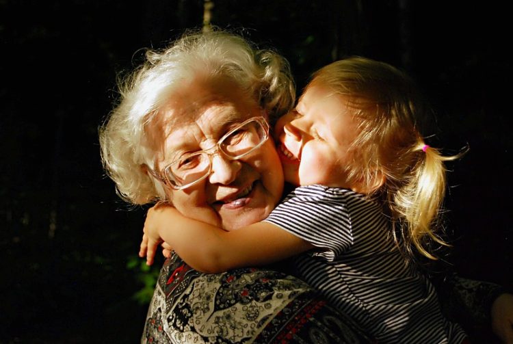
[[[513,344],[513,294],[501,294],[493,302],[492,330],[503,343]]]

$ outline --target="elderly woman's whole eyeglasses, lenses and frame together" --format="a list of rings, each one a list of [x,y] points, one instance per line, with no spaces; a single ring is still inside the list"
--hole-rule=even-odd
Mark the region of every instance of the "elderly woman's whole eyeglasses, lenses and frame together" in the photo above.
[[[187,154],[170,163],[162,170],[165,180],[151,170],[150,173],[164,183],[167,182],[166,184],[172,189],[186,189],[210,175],[211,157],[218,151],[230,160],[237,160],[262,146],[267,137],[269,137],[269,124],[265,118],[253,117],[224,134],[215,146]]]

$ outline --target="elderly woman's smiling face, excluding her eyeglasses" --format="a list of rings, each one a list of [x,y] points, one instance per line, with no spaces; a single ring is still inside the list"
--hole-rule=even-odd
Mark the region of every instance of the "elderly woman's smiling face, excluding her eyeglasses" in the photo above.
[[[174,94],[159,113],[167,132],[161,171],[183,154],[207,150],[238,123],[262,116],[261,109],[227,80],[198,79]],[[211,155],[211,174],[187,189],[167,187],[176,209],[226,230],[263,220],[282,196],[283,174],[271,139],[238,160]]]

